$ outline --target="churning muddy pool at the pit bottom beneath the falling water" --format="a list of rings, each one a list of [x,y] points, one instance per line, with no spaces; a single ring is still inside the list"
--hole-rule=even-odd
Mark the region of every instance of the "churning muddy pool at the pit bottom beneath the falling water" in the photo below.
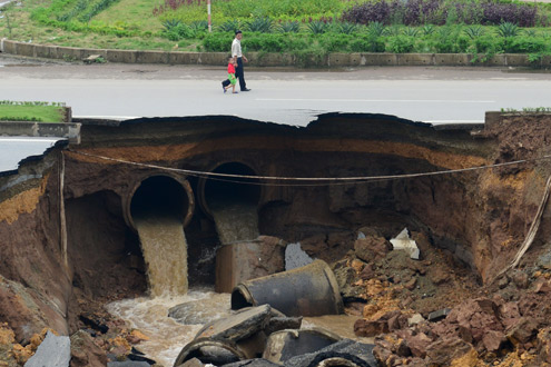
[[[228,315],[229,297],[229,294],[218,296],[208,289],[190,289],[185,296],[125,299],[106,307],[110,314],[124,319],[128,327],[140,330],[149,338],[136,348],[158,365],[170,367],[181,348],[194,339],[204,324]],[[168,317],[171,307],[186,302],[200,302],[204,313],[208,314],[203,317],[203,324],[181,325]]]

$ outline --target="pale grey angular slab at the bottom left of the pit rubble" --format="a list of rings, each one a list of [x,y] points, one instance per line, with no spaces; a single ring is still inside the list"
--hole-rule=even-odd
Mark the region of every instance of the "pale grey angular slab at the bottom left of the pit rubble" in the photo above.
[[[71,341],[67,336],[56,336],[48,331],[35,355],[24,367],[68,367],[71,359]]]

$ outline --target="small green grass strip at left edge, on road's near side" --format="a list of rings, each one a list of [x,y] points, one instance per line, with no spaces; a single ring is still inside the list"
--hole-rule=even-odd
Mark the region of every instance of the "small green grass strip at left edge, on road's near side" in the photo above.
[[[0,101],[0,121],[62,122],[63,103]]]

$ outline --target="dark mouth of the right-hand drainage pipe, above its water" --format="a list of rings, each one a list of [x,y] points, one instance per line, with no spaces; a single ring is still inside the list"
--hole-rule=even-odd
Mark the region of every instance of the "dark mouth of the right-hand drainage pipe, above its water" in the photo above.
[[[236,176],[258,176],[253,168],[240,162],[225,162],[218,165],[210,172]],[[210,218],[213,208],[227,205],[257,206],[260,201],[262,187],[259,180],[249,177],[203,178],[199,181],[199,205]]]

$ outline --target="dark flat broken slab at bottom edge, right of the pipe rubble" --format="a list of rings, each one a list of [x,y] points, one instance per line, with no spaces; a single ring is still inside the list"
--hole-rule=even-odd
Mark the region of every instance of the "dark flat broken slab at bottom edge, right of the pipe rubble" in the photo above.
[[[343,339],[316,353],[299,355],[288,359],[285,367],[350,366],[376,367],[371,344]]]

